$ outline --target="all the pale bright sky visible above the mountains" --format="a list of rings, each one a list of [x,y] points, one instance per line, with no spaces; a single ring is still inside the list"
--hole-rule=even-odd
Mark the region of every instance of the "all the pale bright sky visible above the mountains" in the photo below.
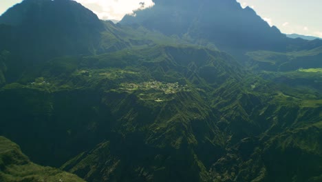
[[[76,0],[95,12],[100,19],[120,20],[133,10],[154,5],[152,0]],[[322,0],[237,0],[253,8],[270,26],[286,34],[322,37]],[[21,0],[0,0],[0,14]]]

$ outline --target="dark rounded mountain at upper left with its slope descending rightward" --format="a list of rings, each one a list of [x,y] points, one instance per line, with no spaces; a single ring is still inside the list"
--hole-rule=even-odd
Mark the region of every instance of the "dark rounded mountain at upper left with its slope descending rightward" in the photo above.
[[[0,50],[11,55],[1,61],[7,68],[4,77],[17,81],[54,57],[130,47],[120,34],[120,28],[76,1],[22,1],[0,17]]]

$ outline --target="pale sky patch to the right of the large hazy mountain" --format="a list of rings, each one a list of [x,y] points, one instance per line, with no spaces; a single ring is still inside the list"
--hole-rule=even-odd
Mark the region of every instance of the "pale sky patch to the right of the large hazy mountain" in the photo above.
[[[322,37],[322,0],[237,0],[283,33]]]

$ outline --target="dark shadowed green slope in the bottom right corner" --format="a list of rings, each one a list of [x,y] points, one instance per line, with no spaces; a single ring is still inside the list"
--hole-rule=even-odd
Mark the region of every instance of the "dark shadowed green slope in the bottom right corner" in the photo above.
[[[321,110],[321,108],[320,108]],[[211,168],[215,181],[321,181],[319,123],[244,139]],[[261,143],[258,145],[258,143]],[[250,152],[250,148],[253,148]],[[246,155],[245,155],[246,154]]]

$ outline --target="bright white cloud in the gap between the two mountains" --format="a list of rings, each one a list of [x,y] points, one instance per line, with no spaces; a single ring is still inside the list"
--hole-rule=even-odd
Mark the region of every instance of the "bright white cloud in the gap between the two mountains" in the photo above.
[[[133,10],[154,6],[152,0],[74,0],[97,14],[100,19],[120,20]],[[142,4],[144,3],[144,4]]]

